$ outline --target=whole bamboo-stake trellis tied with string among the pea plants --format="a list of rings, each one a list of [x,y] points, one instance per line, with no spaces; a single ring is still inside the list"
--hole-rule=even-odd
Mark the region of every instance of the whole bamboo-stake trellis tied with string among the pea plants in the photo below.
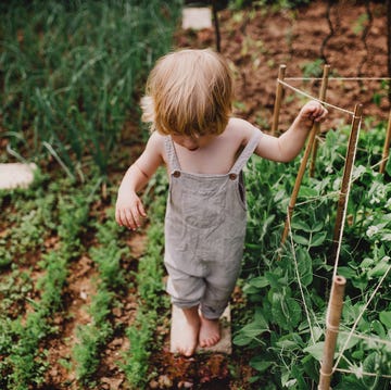
[[[278,116],[279,116],[280,104],[281,104],[281,100],[282,100],[281,99],[282,98],[281,85],[286,85],[298,92],[302,92],[302,91],[287,85],[283,81],[285,72],[286,72],[286,66],[281,65],[280,70],[279,70],[278,80],[277,80],[276,105],[275,105],[275,110],[274,110],[272,134],[274,134],[276,131],[277,126],[278,126]],[[343,294],[344,294],[344,286],[345,286],[346,280],[342,276],[338,276],[337,271],[338,271],[340,246],[341,246],[342,236],[343,236],[343,226],[344,226],[345,217],[346,217],[349,191],[350,191],[350,186],[351,186],[351,178],[352,178],[355,154],[356,154],[356,150],[357,150],[358,133],[360,133],[360,126],[362,123],[362,114],[363,114],[363,106],[361,104],[355,105],[354,112],[349,112],[346,110],[333,106],[333,105],[325,102],[327,84],[328,84],[328,73],[329,73],[329,66],[326,65],[324,67],[324,75],[321,78],[323,83],[321,83],[321,88],[320,88],[320,93],[319,93],[318,100],[320,101],[320,103],[325,103],[326,105],[329,105],[333,109],[339,109],[340,111],[349,113],[350,115],[353,116],[353,121],[352,121],[351,133],[350,133],[350,138],[349,138],[349,146],[348,146],[348,151],[346,151],[346,156],[345,156],[345,164],[344,164],[344,171],[343,171],[343,177],[342,177],[342,184],[341,184],[341,190],[340,190],[340,197],[339,197],[338,210],[337,210],[337,218],[336,218],[336,225],[335,225],[333,247],[332,247],[332,250],[333,250],[332,257],[335,259],[333,276],[332,276],[332,287],[331,287],[330,299],[329,299],[327,316],[326,316],[326,337],[325,337],[325,347],[324,347],[323,358],[321,358],[321,367],[320,367],[320,372],[319,372],[319,385],[318,385],[319,390],[329,390],[330,389],[332,373],[335,369],[337,369],[336,367],[338,366],[338,363],[339,363],[339,360],[338,360],[336,363],[336,366],[333,367],[333,356],[335,356],[340,318],[341,318],[341,313],[342,313],[342,307],[343,307]],[[305,92],[302,92],[302,95],[310,97]],[[301,162],[301,165],[300,165],[300,168],[298,172],[298,177],[297,177],[294,188],[292,191],[292,196],[291,196],[291,199],[289,202],[288,216],[286,219],[286,225],[285,225],[285,229],[283,229],[283,234],[282,234],[282,238],[281,238],[281,244],[283,244],[283,242],[288,236],[288,232],[289,232],[289,222],[290,222],[292,213],[293,213],[293,209],[295,205],[300,185],[301,185],[304,172],[305,172],[305,166],[306,166],[311,150],[313,150],[312,169],[314,169],[314,166],[315,166],[315,158],[316,158],[316,150],[317,150],[317,146],[315,146],[315,138],[316,138],[316,134],[318,133],[318,130],[319,130],[319,127],[317,124],[315,124],[308,136],[306,149],[304,151],[304,156],[302,159],[302,162]],[[384,146],[383,146],[382,160],[381,160],[381,164],[380,164],[380,173],[384,172],[384,167],[386,167],[386,164],[387,164],[387,161],[389,158],[390,142],[391,142],[391,111],[389,114],[387,135],[386,135],[386,140],[384,140]]]

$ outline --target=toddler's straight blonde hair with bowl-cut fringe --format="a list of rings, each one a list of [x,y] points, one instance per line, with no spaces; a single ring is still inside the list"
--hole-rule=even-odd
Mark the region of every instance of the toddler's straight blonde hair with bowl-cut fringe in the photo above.
[[[210,49],[168,53],[148,78],[142,121],[163,135],[219,135],[231,114],[232,89],[220,54]]]

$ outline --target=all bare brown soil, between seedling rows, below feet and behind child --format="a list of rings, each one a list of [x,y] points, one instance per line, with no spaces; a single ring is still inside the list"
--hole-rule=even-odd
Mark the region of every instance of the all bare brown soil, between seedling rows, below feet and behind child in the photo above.
[[[357,4],[354,1],[311,1],[307,7],[282,11],[220,11],[218,21],[222,53],[228,59],[236,79],[235,114],[269,130],[279,65],[287,65],[286,77],[318,78],[321,77],[323,63],[327,63],[332,77],[365,78],[330,79],[327,90],[329,103],[350,112],[355,104],[361,103],[366,118],[377,122],[387,119],[389,102],[386,87],[379,80],[368,79],[387,76],[386,15],[386,5],[381,2]],[[213,28],[199,32],[178,29],[175,41],[176,47],[215,47],[216,36]],[[311,96],[318,96],[319,80],[287,83]],[[374,99],[378,104],[374,103]],[[289,126],[304,101],[302,95],[286,89],[279,121],[281,131]],[[342,123],[351,119],[345,112],[331,108],[329,111],[329,119],[324,128],[338,130]],[[131,128],[135,127],[127,126],[125,134],[131,133]],[[126,140],[124,144],[128,144]],[[137,158],[140,150],[140,146],[134,146],[131,158]],[[117,176],[119,181],[119,174]],[[96,212],[103,206],[98,205]],[[142,234],[126,234],[133,259],[124,266],[136,269],[146,238]],[[62,335],[48,341],[50,369],[46,389],[77,388],[74,375],[60,362],[71,354],[73,344],[77,342],[77,326],[89,322],[84,307],[93,294],[93,284],[90,280],[94,271],[88,257],[79,259],[73,267],[66,291],[70,312],[66,316],[55,318]],[[131,324],[135,317],[135,293],[136,291],[130,291],[124,298],[123,306],[113,311],[115,324],[122,324],[118,329]],[[243,298],[238,288],[232,300],[234,323],[241,305]],[[235,349],[234,345],[231,356],[173,356],[168,352],[168,320],[166,325],[166,328],[157,330],[166,343],[152,357],[152,369],[156,375],[149,382],[150,389],[252,389],[249,379],[253,373],[242,349]],[[97,377],[100,385],[97,389],[127,388],[124,374],[117,368],[116,362],[122,351],[128,347],[128,341],[121,331],[106,345],[101,356]]]

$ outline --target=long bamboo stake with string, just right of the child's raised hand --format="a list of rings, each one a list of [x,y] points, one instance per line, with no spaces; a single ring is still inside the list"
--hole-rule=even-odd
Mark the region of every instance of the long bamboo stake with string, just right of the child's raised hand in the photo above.
[[[349,184],[350,184],[350,178],[352,175],[354,160],[355,160],[356,143],[357,143],[358,129],[360,129],[360,123],[362,119],[362,114],[363,114],[363,105],[356,104],[355,109],[354,109],[354,116],[353,116],[353,121],[352,121],[351,134],[349,137],[349,144],[348,144],[348,151],[346,151],[346,156],[345,156],[345,165],[343,168],[341,190],[340,190],[340,196],[338,199],[337,217],[336,217],[336,225],[335,225],[333,239],[332,239],[332,252],[331,252],[332,256],[330,256],[330,259],[337,257],[338,244],[339,244],[339,240],[340,240],[340,234],[341,234],[341,229],[342,229],[342,223],[343,223],[344,212],[345,212],[346,202],[348,202]],[[330,261],[328,263],[332,265],[332,263]]]

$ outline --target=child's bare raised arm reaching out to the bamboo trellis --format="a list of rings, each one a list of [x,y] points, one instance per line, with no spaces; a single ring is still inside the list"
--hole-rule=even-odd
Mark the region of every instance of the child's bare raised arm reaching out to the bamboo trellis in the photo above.
[[[290,128],[279,138],[263,135],[255,153],[273,161],[289,162],[303,148],[314,123],[326,119],[328,111],[317,101],[307,102],[299,112]]]

